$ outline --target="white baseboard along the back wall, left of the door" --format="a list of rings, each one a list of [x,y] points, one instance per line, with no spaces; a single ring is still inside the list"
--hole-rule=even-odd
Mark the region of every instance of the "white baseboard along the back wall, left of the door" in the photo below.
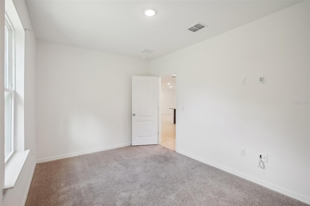
[[[125,144],[120,144],[120,145],[113,145],[113,146],[108,146],[108,147],[101,147],[101,148],[96,148],[96,149],[89,149],[89,150],[84,150],[84,151],[79,151],[79,152],[73,152],[73,153],[69,153],[69,154],[57,155],[57,156],[53,156],[53,157],[47,157],[47,158],[39,159],[39,160],[37,160],[37,163],[60,160],[60,159],[68,158],[68,157],[75,157],[78,155],[90,154],[90,153],[94,153],[94,152],[100,152],[100,151],[115,149],[115,148],[119,148],[119,147],[126,147],[126,146],[130,146],[130,145],[131,145],[131,142],[125,143]]]

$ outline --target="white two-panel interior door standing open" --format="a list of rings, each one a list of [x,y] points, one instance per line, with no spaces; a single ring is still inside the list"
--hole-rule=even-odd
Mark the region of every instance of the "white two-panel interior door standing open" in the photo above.
[[[132,76],[132,145],[158,144],[158,77]]]

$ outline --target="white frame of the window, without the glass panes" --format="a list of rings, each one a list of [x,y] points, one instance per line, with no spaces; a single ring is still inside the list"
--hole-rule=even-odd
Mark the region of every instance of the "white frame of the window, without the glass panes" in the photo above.
[[[5,30],[9,32],[8,35],[8,50],[9,50],[9,78],[8,78],[8,86],[4,85],[4,92],[11,93],[11,152],[5,155],[4,162],[8,162],[9,159],[14,154],[14,99],[15,99],[15,29],[10,22],[10,19],[5,14]],[[6,41],[6,40],[5,40]],[[6,54],[5,54],[6,55]],[[6,76],[4,76],[6,78]],[[6,137],[7,138],[7,137]]]

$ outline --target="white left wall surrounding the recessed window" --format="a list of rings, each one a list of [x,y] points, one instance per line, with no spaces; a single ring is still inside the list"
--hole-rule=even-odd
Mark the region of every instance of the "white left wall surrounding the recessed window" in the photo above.
[[[13,0],[16,11],[24,28],[32,29],[30,18],[28,15],[25,1]],[[2,5],[1,5],[2,6]],[[1,10],[2,11],[2,10]],[[4,16],[0,14],[1,18]],[[2,28],[2,27],[1,27]],[[4,32],[1,29],[1,33]],[[16,186],[12,190],[8,190],[2,196],[0,192],[1,206],[21,206],[25,203],[31,178],[36,163],[35,151],[35,48],[36,40],[34,32],[26,32],[25,34],[25,77],[24,77],[24,145],[25,149],[31,149],[32,152],[28,156],[21,174],[16,182]],[[2,167],[1,167],[2,169]],[[3,171],[0,171],[3,172]],[[1,182],[0,191],[2,191],[3,182]]]

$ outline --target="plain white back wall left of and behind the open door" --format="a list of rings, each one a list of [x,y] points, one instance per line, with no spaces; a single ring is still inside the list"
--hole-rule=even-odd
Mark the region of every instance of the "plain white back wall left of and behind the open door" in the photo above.
[[[39,162],[131,143],[131,76],[149,63],[37,41]]]

